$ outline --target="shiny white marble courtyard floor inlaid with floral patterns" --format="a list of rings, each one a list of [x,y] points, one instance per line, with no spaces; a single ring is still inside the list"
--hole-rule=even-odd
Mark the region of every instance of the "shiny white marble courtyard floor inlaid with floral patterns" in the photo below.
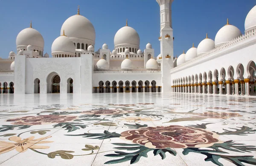
[[[256,98],[1,94],[0,165],[256,165]]]

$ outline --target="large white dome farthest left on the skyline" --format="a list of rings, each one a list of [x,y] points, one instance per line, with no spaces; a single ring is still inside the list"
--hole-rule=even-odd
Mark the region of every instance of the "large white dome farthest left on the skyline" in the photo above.
[[[43,36],[33,28],[26,28],[20,31],[16,38],[16,46],[28,46],[33,45],[35,47],[44,48]]]

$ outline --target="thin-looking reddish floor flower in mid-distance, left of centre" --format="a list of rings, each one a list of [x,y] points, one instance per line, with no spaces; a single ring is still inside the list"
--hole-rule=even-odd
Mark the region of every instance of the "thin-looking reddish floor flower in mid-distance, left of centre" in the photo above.
[[[82,114],[95,114],[95,115],[113,115],[113,114],[129,114],[134,111],[122,110],[122,109],[97,109],[92,111],[84,111]]]

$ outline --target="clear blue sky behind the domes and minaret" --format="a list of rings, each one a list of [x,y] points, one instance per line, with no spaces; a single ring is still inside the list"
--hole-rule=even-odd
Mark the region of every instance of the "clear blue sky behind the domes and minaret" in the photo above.
[[[64,21],[77,13],[87,17],[96,31],[95,49],[107,43],[111,51],[113,39],[120,28],[128,25],[140,35],[140,49],[150,42],[155,56],[160,54],[159,6],[155,0],[0,0],[0,57],[7,58],[16,50],[17,34],[29,27],[44,37],[44,53],[51,53],[52,42],[60,35]],[[244,34],[244,20],[256,0],[175,0],[172,25],[175,37],[174,55],[179,56],[208,36],[214,40],[218,30],[227,23]]]

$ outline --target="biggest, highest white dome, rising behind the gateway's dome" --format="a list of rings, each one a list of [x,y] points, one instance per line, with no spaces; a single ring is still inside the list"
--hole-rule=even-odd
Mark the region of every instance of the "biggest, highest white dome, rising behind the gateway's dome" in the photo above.
[[[86,17],[74,15],[69,17],[61,27],[61,34],[66,31],[67,37],[89,39],[95,43],[95,29],[93,24]]]

